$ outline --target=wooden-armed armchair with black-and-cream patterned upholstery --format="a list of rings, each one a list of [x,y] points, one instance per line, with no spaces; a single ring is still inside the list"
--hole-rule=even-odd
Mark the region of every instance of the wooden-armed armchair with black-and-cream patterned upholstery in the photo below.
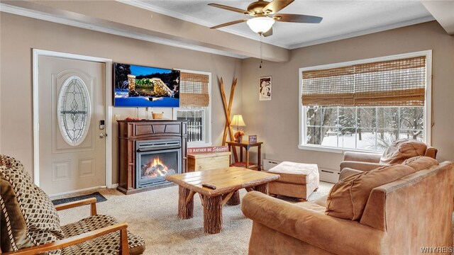
[[[126,223],[96,214],[96,198],[54,206],[23,169],[0,154],[0,254],[143,254],[142,237]],[[60,226],[57,210],[91,205],[91,215]]]

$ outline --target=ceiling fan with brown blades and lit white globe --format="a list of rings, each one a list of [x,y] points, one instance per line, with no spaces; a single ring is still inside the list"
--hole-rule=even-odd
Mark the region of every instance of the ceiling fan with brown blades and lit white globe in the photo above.
[[[246,22],[251,30],[259,35],[270,36],[272,35],[272,25],[275,21],[281,22],[294,22],[294,23],[320,23],[323,18],[317,16],[301,15],[301,14],[289,14],[289,13],[277,13],[289,4],[292,4],[294,0],[273,0],[263,1],[258,0],[249,4],[248,10],[243,10],[236,7],[225,6],[223,4],[208,4],[217,8],[223,8],[227,11],[235,11],[237,13],[243,13],[253,18],[244,18],[238,21],[231,21],[223,23],[218,26],[212,27],[213,29],[222,28],[225,26],[231,26],[234,24]],[[274,15],[272,15],[274,14]]]

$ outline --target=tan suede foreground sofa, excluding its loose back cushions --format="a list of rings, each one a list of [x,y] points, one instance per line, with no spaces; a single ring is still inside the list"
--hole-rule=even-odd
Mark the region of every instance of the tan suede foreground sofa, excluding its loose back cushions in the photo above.
[[[323,203],[250,192],[241,207],[253,220],[249,254],[421,254],[427,246],[451,247],[453,165],[442,162],[373,188],[358,221],[326,215]]]

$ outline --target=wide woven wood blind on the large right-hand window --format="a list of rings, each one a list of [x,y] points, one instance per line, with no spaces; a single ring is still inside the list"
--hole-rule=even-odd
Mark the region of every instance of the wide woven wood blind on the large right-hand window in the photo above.
[[[426,57],[303,72],[304,106],[423,106]]]

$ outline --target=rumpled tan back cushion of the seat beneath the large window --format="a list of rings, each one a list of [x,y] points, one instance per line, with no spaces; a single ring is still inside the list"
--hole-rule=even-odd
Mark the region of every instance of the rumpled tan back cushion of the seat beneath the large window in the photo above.
[[[426,149],[426,144],[417,140],[397,140],[383,152],[380,164],[401,164],[405,159],[423,156]]]

